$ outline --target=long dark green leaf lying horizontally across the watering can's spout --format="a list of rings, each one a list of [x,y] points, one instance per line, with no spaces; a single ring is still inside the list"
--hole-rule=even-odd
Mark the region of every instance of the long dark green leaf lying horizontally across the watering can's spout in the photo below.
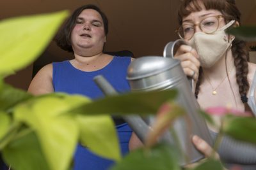
[[[87,115],[102,113],[115,113],[115,115],[152,114],[157,112],[161,104],[175,99],[176,96],[176,90],[129,92],[117,96],[107,96],[93,101],[93,103],[86,103],[72,110],[72,112]]]

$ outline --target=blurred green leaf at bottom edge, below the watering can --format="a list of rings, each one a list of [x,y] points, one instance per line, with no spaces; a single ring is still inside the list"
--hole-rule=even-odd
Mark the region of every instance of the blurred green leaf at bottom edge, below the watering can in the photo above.
[[[150,150],[138,149],[129,153],[112,170],[179,170],[175,148],[170,145],[157,145]]]

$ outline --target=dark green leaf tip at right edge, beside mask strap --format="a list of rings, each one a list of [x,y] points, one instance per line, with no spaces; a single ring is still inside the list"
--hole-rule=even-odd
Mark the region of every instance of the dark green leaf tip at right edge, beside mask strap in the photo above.
[[[246,41],[256,41],[256,26],[241,26],[227,30],[228,34],[232,34],[239,39]]]

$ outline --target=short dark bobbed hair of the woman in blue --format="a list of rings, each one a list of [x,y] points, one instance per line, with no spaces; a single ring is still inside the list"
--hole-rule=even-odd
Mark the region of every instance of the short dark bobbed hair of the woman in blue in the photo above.
[[[73,52],[71,41],[70,41],[71,32],[74,29],[74,26],[76,25],[77,17],[80,15],[80,13],[83,10],[86,10],[86,9],[92,9],[99,12],[103,20],[105,35],[108,34],[108,18],[100,10],[100,8],[93,4],[87,4],[87,5],[81,6],[72,13],[72,15],[67,19],[67,21],[64,23],[64,25],[61,27],[60,31],[57,33],[56,37],[54,38],[57,45],[60,46],[60,48],[62,48],[63,50],[68,52]]]

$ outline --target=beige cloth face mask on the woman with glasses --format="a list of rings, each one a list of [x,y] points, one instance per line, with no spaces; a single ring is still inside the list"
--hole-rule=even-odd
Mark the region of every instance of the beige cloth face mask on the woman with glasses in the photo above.
[[[227,25],[221,27],[213,34],[196,32],[194,36],[189,39],[189,45],[196,49],[202,67],[212,67],[223,57],[228,46],[230,46],[234,40],[234,38],[231,41],[228,40],[225,29],[234,24],[234,22],[235,20],[228,22]]]

